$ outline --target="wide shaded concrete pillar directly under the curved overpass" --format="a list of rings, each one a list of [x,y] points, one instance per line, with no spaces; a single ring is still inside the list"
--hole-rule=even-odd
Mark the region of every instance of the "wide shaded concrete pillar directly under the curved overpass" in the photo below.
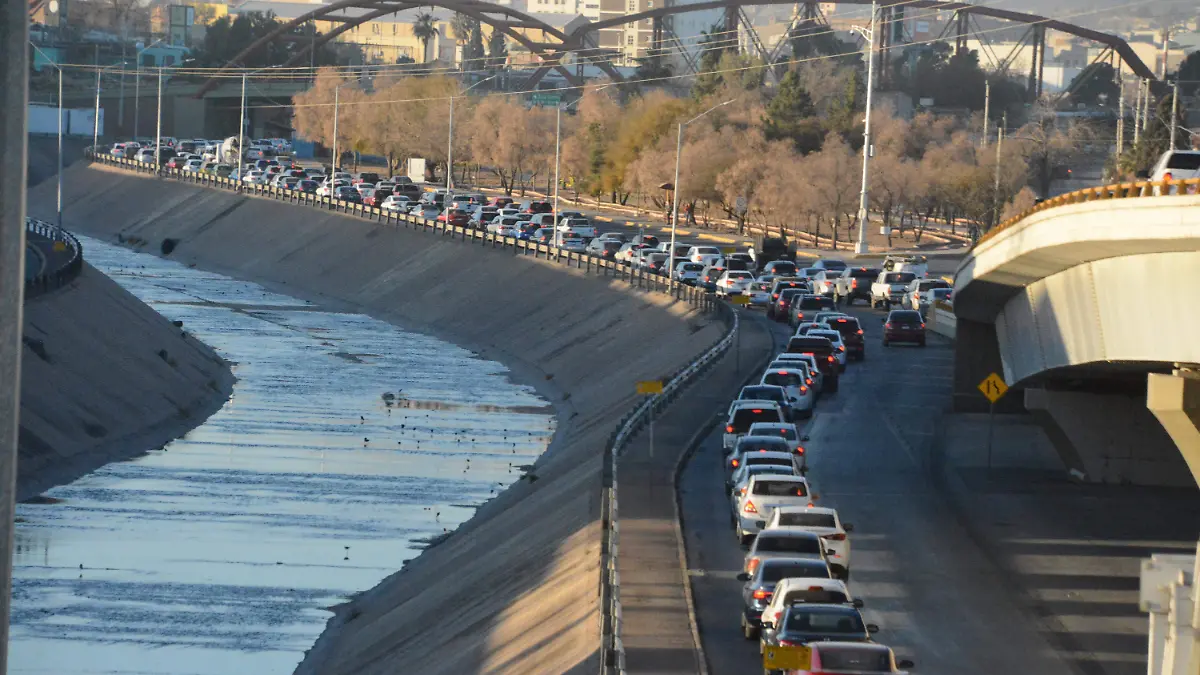
[[[1139,396],[1031,388],[1025,407],[1081,480],[1196,486],[1171,436]]]

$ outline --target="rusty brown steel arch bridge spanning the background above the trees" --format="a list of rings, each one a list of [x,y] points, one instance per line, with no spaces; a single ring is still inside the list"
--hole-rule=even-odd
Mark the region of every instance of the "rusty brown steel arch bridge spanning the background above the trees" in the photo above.
[[[845,5],[870,5],[871,0],[836,0],[839,4]],[[508,7],[504,5],[496,5],[492,2],[485,2],[481,0],[426,0],[422,2],[414,2],[408,0],[338,0],[329,5],[320,5],[311,12],[306,12],[289,22],[286,22],[272,30],[270,34],[263,36],[262,38],[254,41],[254,43],[246,47],[240,54],[229,60],[228,64],[222,66],[220,72],[224,72],[229,68],[236,67],[244,59],[263,48],[270,42],[281,40],[286,37],[292,30],[296,29],[305,23],[312,20],[324,20],[341,23],[341,25],[329,32],[319,36],[317,40],[305,44],[296,54],[294,54],[284,66],[292,66],[299,62],[301,59],[306,58],[312,49],[325,44],[326,42],[335,40],[338,35],[353,29],[354,26],[361,25],[366,22],[374,20],[382,16],[392,14],[396,12],[402,12],[406,10],[412,10],[416,7],[438,7],[444,10],[450,10],[454,12],[460,12],[474,19],[478,19],[481,24],[491,26],[493,30],[499,30],[505,36],[510,37],[517,44],[521,44],[526,49],[529,49],[532,54],[540,59],[540,65],[529,78],[524,82],[526,88],[535,86],[550,71],[558,71],[563,77],[574,86],[580,86],[583,84],[581,78],[572,73],[564,65],[564,60],[569,54],[581,54],[587,52],[594,52],[599,44],[599,31],[604,29],[617,28],[624,24],[631,24],[641,20],[652,20],[655,25],[655,34],[660,32],[659,26],[664,17],[682,14],[685,12],[701,12],[709,10],[724,10],[725,11],[725,30],[733,31],[737,30],[739,16],[742,7],[745,6],[772,6],[772,5],[794,5],[796,0],[707,0],[703,2],[694,2],[686,5],[671,5],[666,7],[658,7],[654,10],[648,10],[644,12],[637,12],[634,14],[623,14],[611,19],[602,19],[598,22],[592,22],[578,29],[565,34],[562,30],[518,10]],[[816,10],[816,0],[805,0],[802,2],[806,7],[805,14],[808,16],[820,16],[820,11]],[[810,7],[811,6],[811,7]],[[916,10],[937,10],[942,12],[953,12],[954,19],[947,24],[947,32],[953,30],[954,40],[958,49],[966,48],[966,41],[970,35],[971,22],[974,17],[986,17],[992,19],[1007,20],[1014,24],[1025,24],[1028,26],[1025,36],[1021,38],[1021,43],[1028,41],[1033,49],[1033,64],[1030,71],[1030,90],[1034,94],[1040,94],[1042,86],[1042,64],[1045,59],[1045,31],[1057,30],[1066,32],[1068,35],[1075,35],[1085,40],[1096,42],[1104,46],[1104,50],[1097,56],[1094,61],[1104,60],[1109,55],[1115,55],[1120,58],[1128,68],[1140,78],[1154,79],[1154,72],[1146,66],[1145,62],[1138,56],[1138,54],[1129,47],[1129,43],[1116,35],[1109,35],[1106,32],[1096,31],[1088,28],[1084,28],[1078,24],[1062,22],[1058,19],[1051,19],[1048,17],[1042,17],[1038,14],[1031,14],[1026,12],[1014,12],[1009,10],[1000,10],[995,7],[968,5],[966,2],[946,2],[941,0],[883,0],[878,4],[880,11],[884,17],[894,16],[896,10],[906,8]],[[358,16],[346,16],[341,14],[344,10],[365,10],[364,13]],[[887,20],[884,18],[884,20]],[[539,30],[544,36],[551,36],[557,42],[538,42],[532,40],[528,35],[521,32],[521,30]],[[888,31],[883,31],[887,34]],[[943,36],[946,32],[943,32]],[[882,46],[886,49],[888,46],[884,42]],[[1013,54],[1009,54],[1000,66],[1002,70],[1007,70],[1008,65],[1015,56],[1016,49]],[[1093,61],[1093,62],[1094,62]],[[622,82],[624,78],[620,72],[612,66],[606,59],[596,59],[595,65],[599,66],[605,74],[607,74],[614,82]],[[210,91],[217,85],[217,78],[214,77],[209,79],[204,86],[198,91],[198,96],[203,96],[205,92]]]

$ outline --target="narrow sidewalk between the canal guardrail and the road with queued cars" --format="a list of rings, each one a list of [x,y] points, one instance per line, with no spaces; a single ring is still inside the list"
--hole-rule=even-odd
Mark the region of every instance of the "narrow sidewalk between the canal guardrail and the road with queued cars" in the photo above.
[[[739,359],[722,358],[654,423],[618,462],[622,640],[629,673],[704,673],[692,633],[678,533],[674,474],[688,449],[708,435],[743,382],[772,354],[767,324],[743,312]],[[740,368],[739,368],[740,366]]]

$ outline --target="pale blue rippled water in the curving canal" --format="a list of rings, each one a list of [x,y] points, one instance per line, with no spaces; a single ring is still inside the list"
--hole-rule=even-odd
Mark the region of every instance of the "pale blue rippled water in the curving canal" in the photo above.
[[[454,345],[84,245],[238,383],[184,438],[19,506],[11,673],[292,673],[324,608],[468,519],[553,434],[532,389]]]

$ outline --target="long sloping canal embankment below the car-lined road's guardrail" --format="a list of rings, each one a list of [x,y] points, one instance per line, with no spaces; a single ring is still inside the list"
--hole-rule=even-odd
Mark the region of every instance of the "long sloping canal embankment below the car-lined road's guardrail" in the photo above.
[[[511,251],[119,169],[68,169],[85,234],[318,303],[359,309],[508,365],[554,404],[526,479],[445,542],[338,608],[298,673],[594,673],[600,455],[635,383],[670,374],[724,325],[684,303]],[[32,192],[34,215],[53,187]],[[397,568],[403,561],[395,561]]]

